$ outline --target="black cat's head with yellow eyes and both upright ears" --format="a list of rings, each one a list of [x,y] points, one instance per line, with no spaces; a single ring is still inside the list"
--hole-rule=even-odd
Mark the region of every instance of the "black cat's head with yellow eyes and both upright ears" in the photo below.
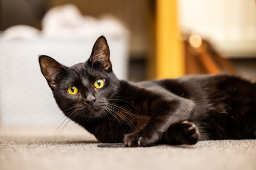
[[[98,38],[90,58],[71,67],[40,56],[42,74],[60,109],[75,122],[104,117],[109,102],[119,93],[120,81],[112,71],[105,37]]]

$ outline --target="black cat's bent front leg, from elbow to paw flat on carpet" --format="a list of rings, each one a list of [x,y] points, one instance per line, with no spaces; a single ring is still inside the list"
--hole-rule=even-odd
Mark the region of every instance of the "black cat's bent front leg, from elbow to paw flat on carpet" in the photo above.
[[[161,106],[162,105],[162,106]],[[161,140],[163,134],[175,122],[187,119],[193,112],[194,103],[186,99],[163,102],[155,105],[159,110],[140,131],[124,136],[127,147],[145,147]],[[189,127],[188,127],[189,128]]]

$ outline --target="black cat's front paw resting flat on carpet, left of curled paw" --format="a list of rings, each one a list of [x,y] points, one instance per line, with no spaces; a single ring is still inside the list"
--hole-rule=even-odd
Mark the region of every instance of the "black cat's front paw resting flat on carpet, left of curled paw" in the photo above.
[[[154,144],[157,140],[157,135],[145,135],[141,133],[128,134],[124,137],[124,143],[126,147],[146,147]]]

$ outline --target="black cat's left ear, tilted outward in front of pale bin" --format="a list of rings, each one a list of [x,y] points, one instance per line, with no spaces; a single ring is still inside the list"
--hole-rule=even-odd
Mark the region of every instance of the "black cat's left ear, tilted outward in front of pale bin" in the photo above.
[[[46,78],[48,85],[54,90],[57,85],[57,77],[66,69],[66,67],[48,56],[40,56],[39,64],[41,72]]]

